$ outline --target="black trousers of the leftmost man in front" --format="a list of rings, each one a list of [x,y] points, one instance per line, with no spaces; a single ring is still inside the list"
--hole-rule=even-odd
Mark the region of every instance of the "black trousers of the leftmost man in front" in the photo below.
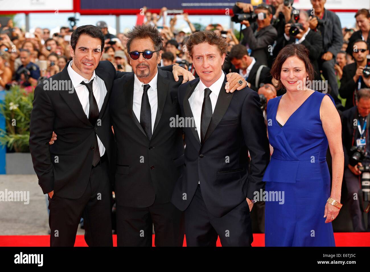
[[[85,241],[88,246],[113,246],[108,159],[105,153],[92,167],[87,188],[81,198],[49,199],[50,246],[74,246],[78,225],[84,218]]]

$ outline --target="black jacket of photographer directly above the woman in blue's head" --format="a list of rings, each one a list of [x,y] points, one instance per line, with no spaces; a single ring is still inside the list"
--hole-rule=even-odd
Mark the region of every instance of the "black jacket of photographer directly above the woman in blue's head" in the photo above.
[[[287,44],[295,43],[296,38],[290,36],[290,40],[287,41],[284,34],[282,34],[276,41],[276,46],[273,51],[273,55],[276,57],[279,51]],[[315,80],[321,80],[318,60],[323,52],[323,38],[322,36],[313,31],[312,29],[307,34],[302,44],[309,50],[309,58],[315,70]]]

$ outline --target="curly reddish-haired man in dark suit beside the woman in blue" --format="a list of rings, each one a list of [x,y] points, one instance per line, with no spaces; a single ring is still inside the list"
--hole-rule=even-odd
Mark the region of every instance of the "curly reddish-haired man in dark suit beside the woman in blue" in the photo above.
[[[186,44],[199,79],[179,88],[184,128],[184,172],[172,203],[185,210],[188,246],[250,246],[254,192],[264,187],[270,151],[258,94],[246,87],[228,94],[221,67],[226,41],[211,31],[192,34]],[[249,165],[248,151],[251,163]]]

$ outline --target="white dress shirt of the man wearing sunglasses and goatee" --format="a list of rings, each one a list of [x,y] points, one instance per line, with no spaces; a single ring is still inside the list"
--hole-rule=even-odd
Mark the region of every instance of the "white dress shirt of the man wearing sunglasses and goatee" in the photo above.
[[[142,94],[144,92],[144,83],[142,83],[136,75],[134,75],[134,97],[132,103],[132,110],[135,113],[137,120],[140,122],[140,110],[141,110],[141,99]],[[150,88],[148,90],[148,98],[150,109],[152,113],[152,133],[154,128],[155,117],[157,116],[157,109],[158,109],[158,94],[157,94],[157,78],[158,78],[158,70],[157,74],[153,77],[153,79],[148,83]]]

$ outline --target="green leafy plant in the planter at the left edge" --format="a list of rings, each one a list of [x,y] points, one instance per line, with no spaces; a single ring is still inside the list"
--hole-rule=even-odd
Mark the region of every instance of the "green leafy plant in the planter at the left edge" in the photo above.
[[[6,131],[0,129],[1,145],[7,145],[15,152],[29,152],[32,102],[32,88],[25,90],[16,85],[6,92],[3,103],[0,103],[0,114],[5,117],[6,124]]]

